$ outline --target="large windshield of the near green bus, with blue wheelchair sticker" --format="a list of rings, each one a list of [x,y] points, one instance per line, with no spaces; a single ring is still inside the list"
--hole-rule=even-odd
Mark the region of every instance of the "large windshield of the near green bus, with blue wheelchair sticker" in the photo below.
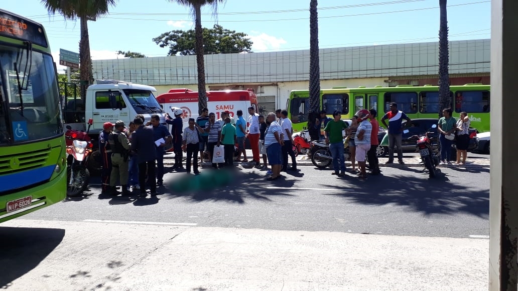
[[[0,146],[63,134],[52,57],[0,45]]]

